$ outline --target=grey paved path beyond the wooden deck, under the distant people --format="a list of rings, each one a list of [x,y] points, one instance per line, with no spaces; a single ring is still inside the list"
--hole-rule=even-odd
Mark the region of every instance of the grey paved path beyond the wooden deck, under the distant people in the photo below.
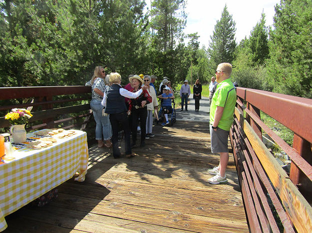
[[[195,112],[195,100],[193,94],[190,95],[190,103],[188,104],[188,112],[181,110],[181,105],[176,105],[176,119],[189,121],[206,121],[209,122],[209,98],[202,97],[199,102],[199,112]]]

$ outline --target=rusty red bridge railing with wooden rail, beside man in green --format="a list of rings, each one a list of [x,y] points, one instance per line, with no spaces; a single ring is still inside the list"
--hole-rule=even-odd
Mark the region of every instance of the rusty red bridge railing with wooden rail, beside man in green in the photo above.
[[[252,232],[311,232],[312,100],[246,88],[237,96],[230,138]],[[260,111],[294,131],[293,147],[261,121]],[[262,131],[291,158],[290,174],[262,143]]]

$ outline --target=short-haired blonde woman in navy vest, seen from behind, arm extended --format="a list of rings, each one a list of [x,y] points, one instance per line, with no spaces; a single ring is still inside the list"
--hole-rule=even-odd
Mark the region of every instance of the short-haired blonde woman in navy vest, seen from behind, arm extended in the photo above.
[[[126,157],[130,158],[134,156],[134,154],[132,154],[130,146],[130,129],[127,119],[128,110],[125,103],[125,97],[129,99],[137,98],[142,94],[143,90],[147,89],[147,87],[143,86],[136,93],[129,92],[121,87],[121,76],[118,73],[110,74],[109,83],[111,86],[104,93],[102,105],[105,107],[105,113],[109,114],[109,120],[113,130],[113,156],[114,158],[120,157],[120,150],[118,148],[118,131],[120,124],[125,135],[125,154]]]

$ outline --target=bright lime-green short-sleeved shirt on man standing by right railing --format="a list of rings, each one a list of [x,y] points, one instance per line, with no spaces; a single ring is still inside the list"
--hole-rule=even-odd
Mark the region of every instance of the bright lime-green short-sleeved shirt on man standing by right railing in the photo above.
[[[229,131],[233,123],[233,114],[236,104],[236,91],[231,79],[226,79],[217,85],[210,105],[210,124],[215,120],[217,106],[223,107],[224,111],[218,127]]]

